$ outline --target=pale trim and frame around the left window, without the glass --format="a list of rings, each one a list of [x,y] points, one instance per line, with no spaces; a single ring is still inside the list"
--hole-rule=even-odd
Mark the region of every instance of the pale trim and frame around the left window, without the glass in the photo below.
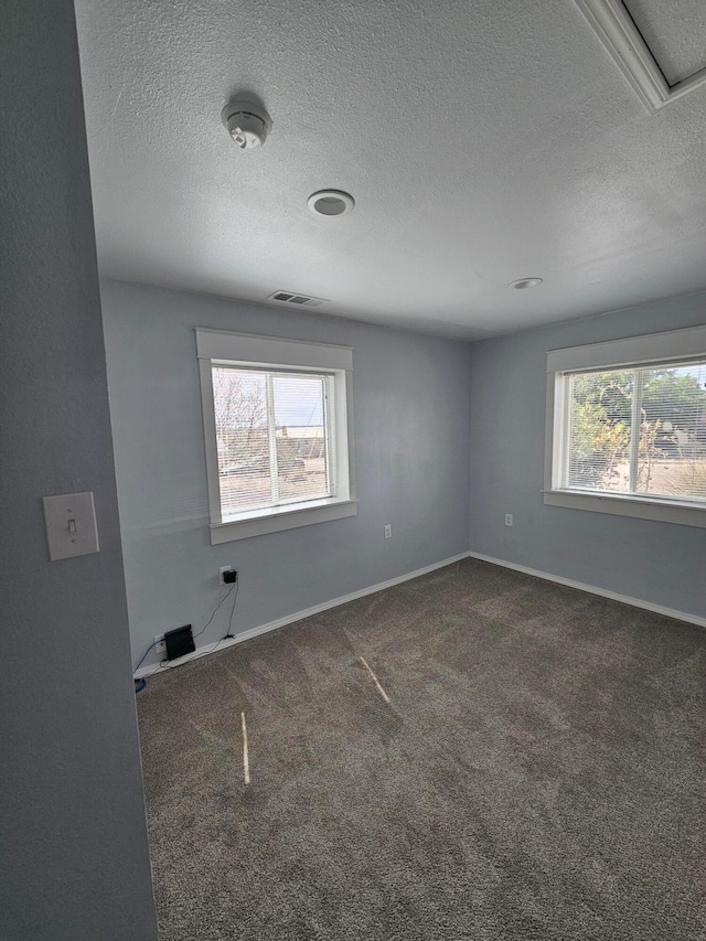
[[[263,536],[313,523],[325,523],[355,516],[354,448],[353,448],[353,351],[349,346],[284,340],[252,333],[231,333],[199,328],[196,355],[201,375],[206,479],[211,513],[211,544]],[[333,377],[334,408],[332,425],[335,435],[335,494],[320,500],[287,503],[250,510],[223,518],[218,481],[218,449],[216,442],[213,400],[213,366],[243,366],[268,371],[322,373]]]

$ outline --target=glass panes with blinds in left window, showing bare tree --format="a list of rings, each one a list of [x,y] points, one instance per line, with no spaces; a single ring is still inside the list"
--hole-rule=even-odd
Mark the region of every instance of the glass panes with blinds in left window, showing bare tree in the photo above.
[[[224,518],[331,495],[329,376],[229,366],[212,374]]]

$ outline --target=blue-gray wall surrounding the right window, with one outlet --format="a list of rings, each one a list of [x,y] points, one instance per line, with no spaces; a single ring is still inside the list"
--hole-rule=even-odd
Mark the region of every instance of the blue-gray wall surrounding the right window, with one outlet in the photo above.
[[[704,617],[706,530],[545,506],[541,493],[546,352],[704,322],[698,293],[474,343],[471,550]]]

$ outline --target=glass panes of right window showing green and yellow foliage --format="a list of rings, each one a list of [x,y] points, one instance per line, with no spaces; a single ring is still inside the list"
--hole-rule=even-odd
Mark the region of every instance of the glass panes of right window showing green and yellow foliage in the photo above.
[[[569,376],[565,486],[706,500],[706,361]]]

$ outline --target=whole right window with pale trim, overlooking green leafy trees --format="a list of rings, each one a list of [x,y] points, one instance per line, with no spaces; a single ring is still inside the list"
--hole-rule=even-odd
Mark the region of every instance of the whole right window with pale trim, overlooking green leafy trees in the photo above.
[[[706,526],[706,328],[547,354],[545,503]]]

